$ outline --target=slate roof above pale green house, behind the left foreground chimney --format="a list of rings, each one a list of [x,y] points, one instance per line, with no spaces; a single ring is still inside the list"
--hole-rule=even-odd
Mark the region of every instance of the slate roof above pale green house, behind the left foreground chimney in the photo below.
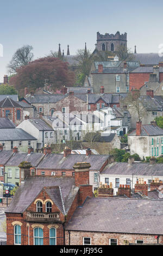
[[[11,156],[9,161],[6,162],[5,166],[18,166],[18,164],[20,164],[21,162],[27,161],[30,162],[32,166],[36,167],[40,163],[43,156],[44,155],[42,153],[31,152],[30,154],[28,154],[23,152],[17,152]]]

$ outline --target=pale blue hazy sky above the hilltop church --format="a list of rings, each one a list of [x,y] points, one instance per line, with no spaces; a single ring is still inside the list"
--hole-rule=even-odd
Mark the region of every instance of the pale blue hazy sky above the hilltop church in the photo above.
[[[159,52],[163,44],[163,1],[160,0],[0,0],[0,82],[16,50],[32,45],[34,58],[52,51],[76,54],[95,49],[97,32],[127,33],[128,48]]]

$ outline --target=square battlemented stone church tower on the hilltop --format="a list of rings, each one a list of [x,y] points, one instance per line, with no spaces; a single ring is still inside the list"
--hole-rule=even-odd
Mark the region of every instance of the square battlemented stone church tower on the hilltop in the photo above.
[[[127,49],[127,33],[120,34],[119,31],[114,34],[97,32],[97,50],[116,52],[118,47],[124,46]]]

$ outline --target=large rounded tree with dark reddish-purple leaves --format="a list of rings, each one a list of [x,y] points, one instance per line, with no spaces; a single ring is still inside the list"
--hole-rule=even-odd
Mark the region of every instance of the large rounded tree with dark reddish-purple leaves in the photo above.
[[[25,87],[34,90],[43,87],[45,80],[55,90],[60,89],[61,86],[73,86],[75,74],[68,69],[67,62],[63,62],[59,58],[45,57],[18,68],[16,75],[10,78],[9,83],[20,92]]]

